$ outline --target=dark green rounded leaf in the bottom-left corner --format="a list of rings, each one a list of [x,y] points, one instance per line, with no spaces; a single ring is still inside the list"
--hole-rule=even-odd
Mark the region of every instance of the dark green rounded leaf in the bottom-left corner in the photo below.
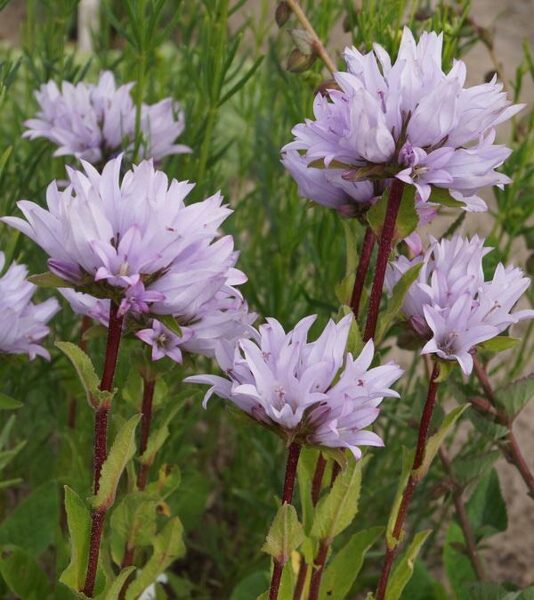
[[[21,548],[0,548],[0,575],[9,590],[22,600],[43,600],[48,596],[48,578],[35,559]]]

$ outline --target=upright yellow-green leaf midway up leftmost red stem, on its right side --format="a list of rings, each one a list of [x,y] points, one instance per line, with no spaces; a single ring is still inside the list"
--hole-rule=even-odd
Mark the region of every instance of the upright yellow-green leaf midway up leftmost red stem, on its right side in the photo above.
[[[107,510],[115,502],[117,486],[127,463],[135,454],[135,428],[141,415],[135,415],[120,428],[102,466],[98,494],[91,498],[94,509]]]

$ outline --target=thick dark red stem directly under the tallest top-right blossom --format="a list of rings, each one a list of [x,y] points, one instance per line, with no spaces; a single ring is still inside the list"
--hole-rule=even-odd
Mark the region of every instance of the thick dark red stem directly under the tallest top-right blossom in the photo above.
[[[378,242],[375,276],[373,278],[373,286],[369,297],[367,323],[365,324],[365,333],[363,336],[365,342],[375,335],[376,324],[378,322],[378,311],[380,309],[380,298],[382,297],[382,288],[384,287],[384,279],[386,277],[386,267],[388,265],[389,255],[391,254],[393,236],[395,234],[395,223],[397,222],[397,215],[399,214],[403,191],[404,183],[398,179],[394,179],[389,188],[386,216],[384,217],[384,225]]]

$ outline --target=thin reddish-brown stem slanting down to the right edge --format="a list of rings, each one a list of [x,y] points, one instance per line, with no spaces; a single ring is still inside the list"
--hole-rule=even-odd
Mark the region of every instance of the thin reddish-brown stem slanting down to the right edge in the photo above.
[[[521,448],[517,442],[517,438],[512,430],[512,420],[503,411],[498,409],[495,400],[495,393],[486,369],[476,356],[474,357],[474,367],[475,375],[477,376],[477,379],[479,380],[480,385],[486,394],[486,398],[489,401],[489,406],[487,404],[485,405],[484,402],[478,402],[476,404],[473,402],[473,404],[475,404],[475,407],[478,410],[491,415],[500,425],[504,425],[504,427],[508,429],[506,439],[499,443],[499,449],[503,453],[506,460],[510,464],[514,465],[514,467],[518,470],[523,481],[525,482],[525,485],[527,486],[529,496],[534,498],[534,474],[532,473],[525,457],[523,456]]]

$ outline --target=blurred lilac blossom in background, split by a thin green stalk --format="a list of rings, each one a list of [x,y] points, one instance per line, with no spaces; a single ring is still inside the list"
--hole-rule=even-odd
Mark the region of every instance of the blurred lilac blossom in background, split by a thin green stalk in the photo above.
[[[97,84],[54,81],[35,93],[40,110],[25,122],[24,137],[44,137],[58,146],[55,156],[73,155],[92,164],[101,163],[133,147],[136,108],[131,97],[134,83],[117,86],[110,71]],[[166,98],[141,107],[141,158],[158,161],[169,154],[191,152],[175,144],[185,126],[180,105]]]

